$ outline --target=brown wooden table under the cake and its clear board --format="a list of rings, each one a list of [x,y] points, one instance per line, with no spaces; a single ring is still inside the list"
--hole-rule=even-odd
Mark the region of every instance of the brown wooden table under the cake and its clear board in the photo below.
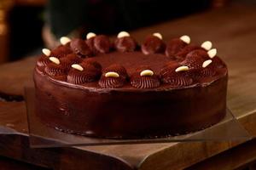
[[[20,99],[32,83],[35,58],[0,66],[0,155],[55,169],[234,169],[256,160],[256,7],[232,5],[182,20],[143,28],[131,34],[142,38],[154,31],[170,38],[188,34],[193,42],[211,40],[229,66],[228,106],[253,136],[250,141],[126,144],[31,149],[26,106]],[[192,166],[192,167],[191,167]]]

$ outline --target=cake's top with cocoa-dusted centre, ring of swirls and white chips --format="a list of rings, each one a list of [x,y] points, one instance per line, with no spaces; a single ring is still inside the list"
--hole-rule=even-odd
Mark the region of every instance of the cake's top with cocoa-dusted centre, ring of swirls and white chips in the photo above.
[[[212,42],[201,46],[189,36],[166,42],[160,33],[142,44],[121,31],[113,42],[88,33],[86,40],[61,37],[55,49],[44,48],[36,71],[67,86],[102,90],[166,90],[206,86],[227,75]]]

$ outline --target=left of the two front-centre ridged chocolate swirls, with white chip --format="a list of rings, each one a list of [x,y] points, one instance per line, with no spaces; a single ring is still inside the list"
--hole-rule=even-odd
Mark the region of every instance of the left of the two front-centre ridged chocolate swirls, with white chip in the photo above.
[[[127,72],[122,65],[110,65],[104,69],[99,85],[102,88],[120,88],[124,86]]]

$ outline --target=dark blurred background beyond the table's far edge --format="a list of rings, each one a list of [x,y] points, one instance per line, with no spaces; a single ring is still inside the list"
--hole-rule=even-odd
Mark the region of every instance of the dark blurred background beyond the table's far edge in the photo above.
[[[253,0],[0,0],[0,65],[54,48],[61,36],[116,34]]]

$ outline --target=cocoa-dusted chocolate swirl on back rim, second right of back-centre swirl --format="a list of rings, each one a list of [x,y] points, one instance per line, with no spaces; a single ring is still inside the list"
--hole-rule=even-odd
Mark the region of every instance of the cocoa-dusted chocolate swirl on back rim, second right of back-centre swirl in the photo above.
[[[188,44],[183,42],[180,38],[174,38],[166,43],[166,55],[175,58],[176,54],[180,52]]]

